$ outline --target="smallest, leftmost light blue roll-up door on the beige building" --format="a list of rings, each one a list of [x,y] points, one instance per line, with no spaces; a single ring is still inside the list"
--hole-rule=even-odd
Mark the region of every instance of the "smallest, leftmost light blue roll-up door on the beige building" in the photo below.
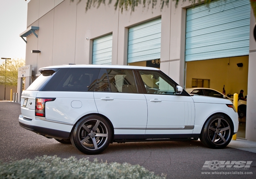
[[[93,40],[93,64],[111,65],[112,34]]]

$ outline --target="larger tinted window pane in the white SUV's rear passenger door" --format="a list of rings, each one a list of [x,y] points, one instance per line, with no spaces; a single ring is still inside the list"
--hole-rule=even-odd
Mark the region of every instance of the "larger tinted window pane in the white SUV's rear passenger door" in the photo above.
[[[108,69],[111,92],[138,93],[132,70]]]

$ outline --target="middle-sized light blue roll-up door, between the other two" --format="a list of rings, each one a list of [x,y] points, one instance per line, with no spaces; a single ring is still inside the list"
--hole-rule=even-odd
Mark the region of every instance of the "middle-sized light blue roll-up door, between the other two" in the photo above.
[[[160,59],[161,18],[129,28],[128,63]]]

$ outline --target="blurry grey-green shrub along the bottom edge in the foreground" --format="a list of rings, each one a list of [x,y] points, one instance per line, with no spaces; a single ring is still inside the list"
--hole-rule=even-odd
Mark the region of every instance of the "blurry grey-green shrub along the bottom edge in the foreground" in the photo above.
[[[128,163],[103,163],[88,158],[75,157],[62,159],[55,156],[42,156],[10,163],[0,163],[1,179],[162,179],[154,172],[140,165]]]

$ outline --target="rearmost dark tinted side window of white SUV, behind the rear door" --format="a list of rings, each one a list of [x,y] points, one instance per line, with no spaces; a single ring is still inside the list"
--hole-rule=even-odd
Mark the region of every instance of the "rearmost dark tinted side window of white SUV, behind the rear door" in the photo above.
[[[56,91],[93,91],[100,69],[70,68]]]

